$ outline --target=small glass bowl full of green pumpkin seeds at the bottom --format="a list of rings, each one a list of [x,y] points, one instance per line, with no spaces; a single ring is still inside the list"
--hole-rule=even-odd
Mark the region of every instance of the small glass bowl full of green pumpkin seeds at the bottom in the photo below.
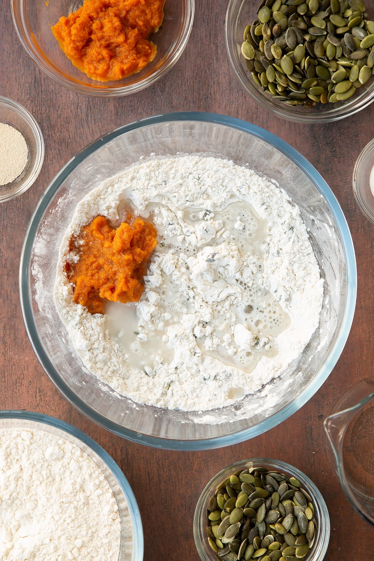
[[[202,561],[321,561],[330,539],[326,503],[297,468],[269,458],[220,471],[193,520]]]

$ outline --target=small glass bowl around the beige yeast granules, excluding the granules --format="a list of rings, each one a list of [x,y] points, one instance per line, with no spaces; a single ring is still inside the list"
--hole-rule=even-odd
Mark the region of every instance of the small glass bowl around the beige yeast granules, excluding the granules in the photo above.
[[[0,96],[0,123],[6,123],[22,133],[29,149],[26,167],[14,181],[0,186],[0,203],[27,191],[39,175],[44,159],[44,140],[34,117],[11,99]]]

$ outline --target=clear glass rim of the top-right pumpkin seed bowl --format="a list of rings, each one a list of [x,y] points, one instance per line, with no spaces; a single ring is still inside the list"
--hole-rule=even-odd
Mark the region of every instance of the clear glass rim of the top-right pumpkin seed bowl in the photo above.
[[[257,90],[254,85],[252,86],[252,84],[248,80],[244,79],[244,76],[240,72],[240,67],[236,58],[236,47],[234,46],[236,43],[233,32],[234,13],[236,13],[238,4],[242,5],[245,1],[246,0],[229,0],[225,20],[226,48],[230,65],[234,70],[237,80],[240,82],[246,93],[250,95],[251,98],[263,109],[270,111],[277,117],[289,119],[290,121],[294,121],[297,123],[328,123],[350,117],[351,115],[353,115],[354,113],[358,113],[374,101],[373,88],[370,94],[364,96],[363,99],[357,100],[357,103],[353,103],[352,105],[349,104],[349,107],[348,105],[343,105],[339,109],[333,111],[307,114],[301,113],[300,111],[297,111],[297,109],[275,105],[275,103],[273,103],[270,98],[268,98],[266,95],[262,95],[260,90]]]

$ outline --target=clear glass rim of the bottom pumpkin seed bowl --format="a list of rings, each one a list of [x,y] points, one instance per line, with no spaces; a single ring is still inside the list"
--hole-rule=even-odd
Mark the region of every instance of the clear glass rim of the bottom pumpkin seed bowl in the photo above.
[[[312,498],[315,501],[315,505],[317,505],[320,518],[321,518],[321,539],[319,542],[315,544],[315,551],[313,557],[309,557],[310,561],[322,561],[324,559],[327,547],[329,546],[330,541],[330,517],[329,511],[327,509],[327,505],[325,499],[321,495],[320,490],[317,488],[316,484],[305,475],[302,471],[300,471],[297,467],[290,465],[289,463],[281,462],[280,460],[270,459],[270,458],[250,458],[244,459],[239,462],[233,463],[231,466],[225,467],[221,470],[217,475],[212,477],[209,483],[205,486],[204,490],[202,491],[196,505],[195,514],[193,515],[193,539],[195,540],[195,546],[197,549],[197,553],[202,561],[211,561],[209,556],[205,552],[204,546],[201,544],[201,540],[199,539],[199,527],[201,516],[203,514],[204,504],[211,493],[212,486],[216,486],[218,482],[222,479],[225,472],[228,471],[237,471],[241,466],[248,462],[253,462],[258,466],[264,465],[264,467],[271,467],[272,469],[284,471],[287,473],[292,473],[296,479],[302,482],[303,486],[306,486],[306,490],[312,494]]]

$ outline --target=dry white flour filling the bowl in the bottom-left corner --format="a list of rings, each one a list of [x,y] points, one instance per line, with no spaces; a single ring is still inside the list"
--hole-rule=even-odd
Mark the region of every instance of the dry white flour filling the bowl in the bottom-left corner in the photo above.
[[[112,489],[77,445],[34,429],[0,429],[0,559],[118,561]]]

